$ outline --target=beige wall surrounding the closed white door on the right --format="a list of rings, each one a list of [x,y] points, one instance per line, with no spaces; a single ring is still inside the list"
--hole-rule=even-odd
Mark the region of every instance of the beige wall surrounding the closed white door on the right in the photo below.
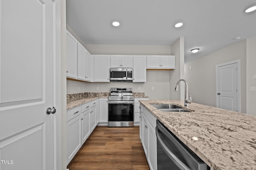
[[[192,102],[215,107],[215,66],[238,59],[241,60],[241,112],[246,113],[246,40],[185,63]]]

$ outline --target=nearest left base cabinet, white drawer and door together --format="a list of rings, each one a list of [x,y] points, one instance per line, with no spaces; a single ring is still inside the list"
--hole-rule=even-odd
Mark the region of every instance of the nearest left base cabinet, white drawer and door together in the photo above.
[[[72,160],[76,152],[82,146],[81,119],[81,106],[67,111],[67,163],[69,163]]]

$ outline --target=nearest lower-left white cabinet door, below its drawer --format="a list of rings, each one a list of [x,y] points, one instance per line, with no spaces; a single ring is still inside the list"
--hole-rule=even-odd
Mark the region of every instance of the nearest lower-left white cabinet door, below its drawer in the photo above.
[[[67,163],[69,163],[80,149],[81,145],[81,118],[75,117],[67,122]]]

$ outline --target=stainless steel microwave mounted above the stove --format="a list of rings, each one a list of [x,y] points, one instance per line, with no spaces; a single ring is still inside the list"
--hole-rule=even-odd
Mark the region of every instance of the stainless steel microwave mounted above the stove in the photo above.
[[[132,68],[110,68],[110,82],[132,82]]]

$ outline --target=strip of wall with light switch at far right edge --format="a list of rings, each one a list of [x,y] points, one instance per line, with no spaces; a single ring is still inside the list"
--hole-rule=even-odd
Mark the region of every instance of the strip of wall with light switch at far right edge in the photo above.
[[[250,91],[250,87],[256,87],[256,39],[247,39],[246,56],[246,113],[256,115],[256,91]]]

